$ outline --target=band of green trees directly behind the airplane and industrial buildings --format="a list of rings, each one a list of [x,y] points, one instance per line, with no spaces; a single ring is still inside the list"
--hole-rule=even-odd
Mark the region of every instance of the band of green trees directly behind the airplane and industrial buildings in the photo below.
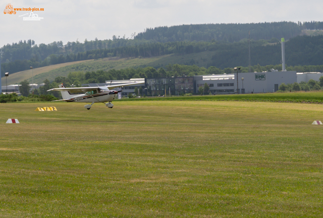
[[[297,71],[302,69],[302,72],[314,72],[316,69],[323,71],[323,65],[319,66],[289,66],[286,69],[288,71]],[[252,72],[270,72],[271,69],[282,70],[282,65],[266,65],[251,66]],[[240,72],[249,72],[248,67],[241,67]],[[198,67],[196,65],[179,65],[179,64],[169,64],[165,68],[127,68],[127,69],[111,69],[107,71],[97,70],[91,72],[75,71],[70,72],[67,77],[56,77],[53,88],[56,88],[58,84],[64,83],[66,86],[71,86],[72,84],[81,86],[85,83],[104,83],[109,80],[122,80],[131,78],[161,78],[161,77],[179,77],[179,76],[196,76],[196,75],[207,75],[207,74],[224,74],[224,73],[234,73],[234,68],[217,68],[210,66],[208,68]],[[46,83],[47,82],[47,83]],[[47,86],[45,89],[50,89],[49,81],[46,81]],[[51,84],[51,83],[50,83]],[[40,93],[43,93],[41,91]]]

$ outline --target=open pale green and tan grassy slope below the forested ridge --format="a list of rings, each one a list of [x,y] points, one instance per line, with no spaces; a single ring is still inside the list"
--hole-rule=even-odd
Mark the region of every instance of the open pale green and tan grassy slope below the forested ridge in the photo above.
[[[33,69],[34,83],[43,83],[45,79],[53,81],[58,76],[67,76],[73,71],[96,71],[110,69],[124,69],[129,67],[163,67],[168,64],[191,64],[200,67],[207,67],[214,52],[205,51],[188,55],[164,55],[151,58],[102,58],[97,60],[76,61],[63,64],[50,65]],[[10,74],[8,84],[17,84],[27,79],[32,81],[31,70],[20,71]],[[6,83],[6,78],[2,78],[2,84]]]

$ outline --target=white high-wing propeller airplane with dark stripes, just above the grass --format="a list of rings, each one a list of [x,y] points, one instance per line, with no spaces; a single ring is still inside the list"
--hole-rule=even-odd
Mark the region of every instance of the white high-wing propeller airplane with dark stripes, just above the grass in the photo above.
[[[107,85],[98,87],[80,87],[80,88],[66,88],[64,84],[59,84],[58,89],[51,89],[49,91],[61,91],[63,99],[56,101],[65,102],[86,102],[86,103],[98,103],[101,102],[105,104],[106,107],[113,108],[112,100],[116,98],[116,95],[122,92],[122,86],[143,84],[145,82],[132,82],[119,85]],[[109,90],[114,88],[120,88],[119,91]],[[54,101],[55,102],[55,101]],[[105,103],[109,102],[109,103]],[[90,110],[92,104],[85,105],[84,107]]]

